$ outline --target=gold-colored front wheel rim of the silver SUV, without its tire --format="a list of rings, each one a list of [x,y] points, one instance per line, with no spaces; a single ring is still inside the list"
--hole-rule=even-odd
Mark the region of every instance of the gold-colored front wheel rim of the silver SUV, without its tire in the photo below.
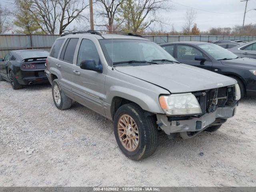
[[[117,128],[119,139],[124,148],[130,152],[135,151],[140,139],[139,131],[133,118],[127,114],[120,116]]]

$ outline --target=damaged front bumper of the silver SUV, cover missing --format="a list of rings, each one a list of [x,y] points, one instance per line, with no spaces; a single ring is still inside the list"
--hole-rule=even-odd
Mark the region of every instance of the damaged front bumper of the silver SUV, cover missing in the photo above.
[[[184,117],[184,119],[175,119],[165,114],[157,114],[157,124],[168,135],[172,133],[180,133],[184,139],[195,136],[202,130],[216,122],[216,119],[226,120],[234,116],[236,113],[236,105],[233,107],[217,108],[214,112],[206,113],[201,117]],[[215,125],[215,124],[214,124]],[[187,132],[195,132],[192,136],[186,136]]]

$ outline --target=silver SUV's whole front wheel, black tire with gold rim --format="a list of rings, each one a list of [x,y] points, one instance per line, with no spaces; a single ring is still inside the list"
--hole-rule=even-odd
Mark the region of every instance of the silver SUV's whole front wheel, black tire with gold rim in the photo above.
[[[157,147],[158,130],[154,116],[145,116],[136,104],[124,104],[114,116],[116,142],[128,158],[140,160],[152,155]]]

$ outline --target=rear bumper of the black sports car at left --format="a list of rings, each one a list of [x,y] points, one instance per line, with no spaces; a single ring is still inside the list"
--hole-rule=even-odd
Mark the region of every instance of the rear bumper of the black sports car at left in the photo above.
[[[49,82],[44,70],[20,71],[16,75],[16,80],[21,85],[42,84]]]

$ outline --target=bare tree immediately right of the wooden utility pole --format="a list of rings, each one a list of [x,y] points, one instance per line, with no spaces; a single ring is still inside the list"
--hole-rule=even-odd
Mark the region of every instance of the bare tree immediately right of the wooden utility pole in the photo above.
[[[124,3],[124,0],[96,0],[96,4],[99,6],[96,9],[96,14],[105,18],[107,21],[103,24],[97,24],[96,26],[105,26],[108,30],[116,30],[122,20],[116,17],[119,6]],[[116,24],[114,23],[116,21]]]

